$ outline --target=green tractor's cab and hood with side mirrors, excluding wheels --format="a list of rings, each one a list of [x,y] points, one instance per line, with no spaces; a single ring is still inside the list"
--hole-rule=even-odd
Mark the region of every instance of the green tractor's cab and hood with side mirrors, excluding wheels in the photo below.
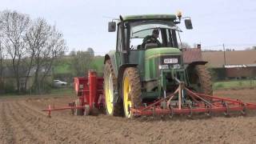
[[[180,67],[182,50],[178,47],[178,42],[181,42],[178,38],[182,30],[177,24],[181,19],[181,14],[148,14],[120,16],[118,22],[109,22],[109,31],[117,31],[115,74],[118,75],[120,68],[136,65],[141,81],[152,82],[160,78],[158,67]],[[190,18],[185,24],[187,29],[192,29]]]

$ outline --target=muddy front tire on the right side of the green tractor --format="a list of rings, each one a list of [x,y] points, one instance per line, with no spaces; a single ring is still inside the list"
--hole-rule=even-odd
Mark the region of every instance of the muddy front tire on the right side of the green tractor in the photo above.
[[[194,70],[190,74],[190,83],[192,88],[198,93],[213,94],[210,73],[204,65],[194,66]]]

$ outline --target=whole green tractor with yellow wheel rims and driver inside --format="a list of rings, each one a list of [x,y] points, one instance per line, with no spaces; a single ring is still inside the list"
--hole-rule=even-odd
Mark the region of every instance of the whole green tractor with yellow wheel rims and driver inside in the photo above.
[[[184,62],[178,46],[181,20],[181,14],[148,14],[109,22],[109,32],[117,31],[117,42],[104,61],[106,114],[133,118],[131,108],[165,98],[178,82],[198,93],[213,93],[206,62]],[[190,18],[184,22],[186,29],[193,29]]]

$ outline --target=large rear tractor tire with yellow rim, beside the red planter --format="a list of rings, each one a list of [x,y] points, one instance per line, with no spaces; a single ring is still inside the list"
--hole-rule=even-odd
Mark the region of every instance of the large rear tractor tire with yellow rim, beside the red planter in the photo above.
[[[106,114],[122,116],[122,101],[114,102],[114,90],[117,90],[118,80],[114,75],[114,69],[110,60],[106,60],[104,67],[104,92]]]

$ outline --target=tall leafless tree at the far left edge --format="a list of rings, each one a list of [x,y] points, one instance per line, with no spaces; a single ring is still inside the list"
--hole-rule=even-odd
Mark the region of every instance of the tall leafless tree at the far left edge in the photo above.
[[[20,87],[20,68],[22,57],[26,52],[23,37],[30,25],[30,18],[26,14],[16,11],[5,10],[1,14],[3,45],[6,48],[8,57],[11,58],[11,66],[14,71],[18,93]]]

